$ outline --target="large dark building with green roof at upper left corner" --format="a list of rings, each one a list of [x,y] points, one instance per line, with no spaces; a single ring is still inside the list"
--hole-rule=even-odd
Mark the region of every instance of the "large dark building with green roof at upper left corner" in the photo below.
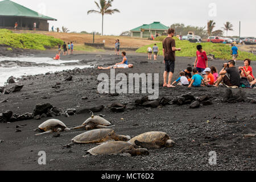
[[[0,1],[0,28],[14,29],[17,22],[18,30],[32,30],[36,23],[36,30],[49,31],[48,20],[56,21],[13,1]]]

